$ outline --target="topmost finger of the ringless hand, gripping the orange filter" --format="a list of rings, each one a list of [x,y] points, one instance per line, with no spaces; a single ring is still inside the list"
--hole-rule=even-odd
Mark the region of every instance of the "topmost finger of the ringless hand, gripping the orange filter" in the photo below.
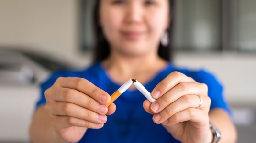
[[[78,90],[95,99],[102,105],[107,105],[111,101],[111,97],[107,92],[98,88],[84,78],[67,77],[58,78],[57,80],[61,87]]]

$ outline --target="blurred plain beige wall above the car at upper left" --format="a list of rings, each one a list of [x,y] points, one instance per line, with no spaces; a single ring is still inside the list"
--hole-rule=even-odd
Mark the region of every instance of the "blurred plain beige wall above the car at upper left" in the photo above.
[[[33,51],[79,66],[78,13],[79,0],[0,0],[0,48]]]

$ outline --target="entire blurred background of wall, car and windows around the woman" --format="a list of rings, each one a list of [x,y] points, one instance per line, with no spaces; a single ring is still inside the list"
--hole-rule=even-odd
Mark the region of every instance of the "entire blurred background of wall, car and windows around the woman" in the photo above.
[[[0,143],[29,143],[38,84],[91,63],[94,0],[0,0]],[[175,0],[174,63],[215,73],[256,142],[256,0]]]

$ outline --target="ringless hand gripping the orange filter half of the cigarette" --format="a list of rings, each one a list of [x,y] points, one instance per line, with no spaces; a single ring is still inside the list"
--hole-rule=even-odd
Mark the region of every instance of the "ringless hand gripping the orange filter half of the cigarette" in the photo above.
[[[111,97],[86,79],[58,78],[45,91],[45,110],[56,134],[68,142],[78,142],[88,128],[100,129],[106,114],[115,112],[115,104],[106,107]]]

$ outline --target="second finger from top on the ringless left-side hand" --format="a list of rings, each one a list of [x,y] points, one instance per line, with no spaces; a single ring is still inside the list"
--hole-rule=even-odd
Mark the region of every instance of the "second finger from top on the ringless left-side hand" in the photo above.
[[[70,102],[77,104],[101,115],[108,112],[108,108],[105,105],[100,105],[99,102],[90,96],[70,88],[59,88],[59,90],[52,96],[52,99],[57,102]]]

